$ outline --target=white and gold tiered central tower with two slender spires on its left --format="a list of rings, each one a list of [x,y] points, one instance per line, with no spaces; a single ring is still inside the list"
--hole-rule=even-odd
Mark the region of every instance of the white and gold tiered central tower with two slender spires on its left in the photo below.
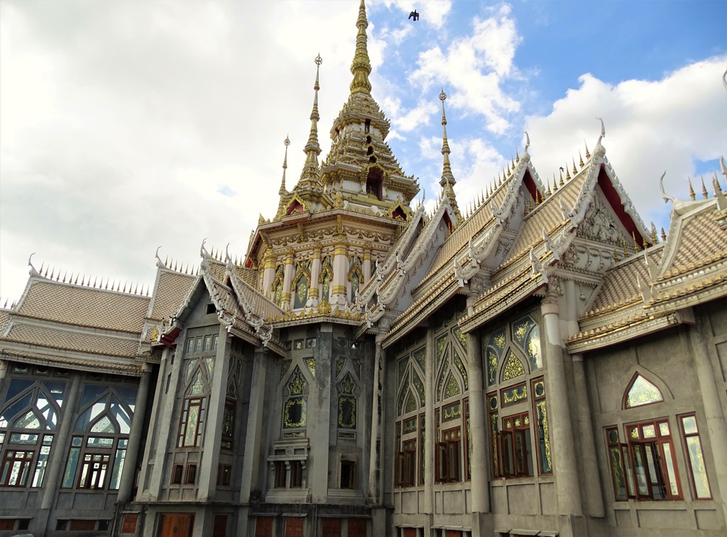
[[[318,92],[323,60],[316,57],[310,134],[305,164],[295,187],[283,184],[275,216],[260,217],[246,256],[258,270],[258,290],[286,318],[348,318],[358,289],[371,278],[393,241],[412,217],[419,192],[406,177],[385,139],[390,123],[371,97],[371,62],[366,47],[366,7],[358,9],[353,80],[348,100],[331,128],[332,147],[318,162]]]

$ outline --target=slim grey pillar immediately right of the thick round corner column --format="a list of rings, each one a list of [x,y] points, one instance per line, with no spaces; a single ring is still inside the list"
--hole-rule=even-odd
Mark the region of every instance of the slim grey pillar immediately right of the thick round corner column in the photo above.
[[[598,474],[595,439],[593,437],[593,420],[591,418],[590,401],[586,389],[586,375],[583,369],[583,355],[573,355],[573,380],[575,384],[578,433],[581,435],[581,461],[583,483],[586,492],[586,511],[592,517],[604,517],[603,493],[601,477]],[[552,420],[551,420],[552,423]]]

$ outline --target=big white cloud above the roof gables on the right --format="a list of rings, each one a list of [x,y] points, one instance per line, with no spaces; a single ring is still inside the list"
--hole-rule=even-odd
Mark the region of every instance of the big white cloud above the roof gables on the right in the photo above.
[[[553,105],[548,116],[529,116],[530,153],[541,177],[578,161],[584,141],[593,149],[603,118],[606,156],[648,225],[666,225],[668,207],[659,195],[659,177],[670,195],[688,199],[687,177],[695,161],[726,150],[727,100],[720,81],[726,57],[696,62],[662,80],[610,85],[585,74],[580,86]],[[705,182],[707,178],[705,178]],[[711,189],[707,186],[708,190]]]

